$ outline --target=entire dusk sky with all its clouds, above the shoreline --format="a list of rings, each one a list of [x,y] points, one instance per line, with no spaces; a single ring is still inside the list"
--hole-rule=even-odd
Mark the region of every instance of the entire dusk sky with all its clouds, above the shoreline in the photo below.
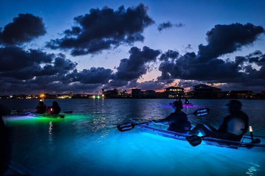
[[[0,0],[0,95],[265,90],[265,1]]]

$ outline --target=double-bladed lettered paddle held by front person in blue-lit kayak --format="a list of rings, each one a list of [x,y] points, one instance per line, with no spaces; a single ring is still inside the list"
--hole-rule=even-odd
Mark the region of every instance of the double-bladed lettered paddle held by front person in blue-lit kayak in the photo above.
[[[209,111],[210,111],[209,108],[198,109],[198,110],[194,111],[192,114],[187,114],[187,116],[189,116],[189,115],[205,116],[205,115],[209,114]],[[137,125],[146,124],[146,123],[149,123],[149,122],[151,122],[151,121],[147,121],[147,122],[143,122],[143,123],[127,122],[127,123],[123,123],[123,124],[118,125],[117,129],[120,132],[130,131]]]

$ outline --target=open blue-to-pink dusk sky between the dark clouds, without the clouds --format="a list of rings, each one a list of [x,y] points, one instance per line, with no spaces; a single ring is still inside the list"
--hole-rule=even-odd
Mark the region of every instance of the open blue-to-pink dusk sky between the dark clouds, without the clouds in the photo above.
[[[77,17],[79,15],[85,15],[89,14],[89,10],[91,8],[99,8],[102,9],[104,6],[108,6],[109,8],[116,11],[121,5],[124,5],[125,10],[128,7],[137,7],[139,3],[143,3],[146,8],[146,13],[152,19],[154,22],[151,24],[148,24],[147,26],[143,27],[143,31],[141,31],[141,35],[144,37],[143,40],[134,40],[133,42],[125,42],[122,41],[122,44],[115,44],[115,47],[99,50],[99,52],[96,53],[87,53],[82,55],[73,55],[71,54],[71,49],[73,49],[73,46],[70,47],[70,49],[62,48],[62,46],[57,47],[56,49],[54,47],[47,47],[47,42],[50,42],[54,39],[62,39],[64,35],[62,33],[67,30],[71,29],[72,26],[76,26],[77,22],[74,21],[74,17]],[[73,62],[77,62],[76,69],[78,71],[78,74],[83,69],[90,70],[91,67],[103,67],[104,69],[111,69],[114,73],[117,72],[117,68],[119,67],[121,70],[120,60],[123,58],[129,58],[131,53],[128,51],[133,47],[138,47],[139,49],[143,50],[144,46],[148,46],[149,48],[153,50],[159,50],[160,55],[167,50],[174,50],[178,51],[179,55],[185,55],[186,52],[197,52],[199,51],[198,45],[207,45],[208,42],[206,40],[207,38],[207,31],[210,31],[212,28],[215,27],[215,25],[230,25],[233,23],[240,23],[242,25],[246,25],[247,23],[251,23],[254,26],[265,26],[265,2],[264,1],[0,1],[0,27],[4,28],[8,23],[11,23],[14,17],[18,17],[18,14],[26,14],[30,13],[34,16],[41,17],[43,20],[43,23],[45,24],[45,30],[46,33],[44,35],[40,35],[39,37],[34,38],[33,40],[30,40],[29,42],[25,42],[23,44],[20,44],[19,47],[22,47],[23,50],[28,49],[41,49],[43,52],[47,53],[55,53],[58,54],[62,52],[65,54],[65,57],[67,59],[70,59]],[[165,28],[162,31],[158,31],[158,25],[163,22],[170,21],[173,25],[172,27]],[[181,27],[175,26],[176,24],[183,24]],[[222,28],[223,30],[223,28]],[[224,29],[227,30],[227,29]],[[137,32],[137,31],[136,31]],[[227,31],[229,33],[229,31]],[[264,32],[263,32],[264,33]],[[264,34],[257,33],[255,36],[253,36],[255,40],[248,42],[246,39],[245,43],[243,42],[240,47],[237,47],[235,50],[229,51],[229,52],[221,52],[219,55],[216,55],[215,57],[219,59],[223,59],[226,61],[227,58],[229,58],[231,61],[235,60],[236,56],[246,56],[255,50],[260,50],[263,54],[265,52],[265,41],[264,41]],[[104,37],[103,37],[104,38]],[[221,37],[222,38],[222,37]],[[209,40],[209,39],[208,39]],[[235,39],[237,40],[237,39]],[[252,40],[252,39],[251,39]],[[222,42],[219,39],[215,40],[217,42]],[[239,41],[239,39],[238,39]],[[241,40],[240,40],[241,41]],[[236,41],[235,41],[236,42]],[[187,48],[187,46],[189,46]],[[6,47],[7,45],[2,45],[2,47]],[[77,48],[76,46],[74,46]],[[79,45],[80,47],[80,45]],[[208,49],[211,47],[208,47]],[[132,87],[138,87],[138,88],[152,88],[153,89],[161,89],[163,86],[167,85],[173,85],[178,84],[178,82],[181,80],[182,82],[185,82],[184,80],[189,80],[189,83],[197,83],[197,82],[203,82],[203,83],[222,83],[222,88],[224,89],[244,89],[246,88],[252,88],[253,90],[263,90],[264,84],[260,85],[254,85],[254,83],[249,83],[248,85],[242,84],[239,87],[235,86],[238,85],[238,82],[247,82],[249,79],[252,78],[241,78],[241,80],[228,80],[224,81],[223,78],[220,79],[220,76],[216,75],[216,78],[199,78],[196,76],[185,76],[184,72],[187,73],[189,70],[182,70],[183,74],[176,74],[172,71],[169,71],[169,75],[171,76],[170,79],[174,79],[174,81],[168,81],[168,79],[163,78],[164,82],[161,84],[161,82],[150,82],[151,80],[155,79],[154,81],[158,80],[158,76],[161,76],[161,70],[158,69],[159,66],[161,66],[161,62],[163,60],[158,59],[160,55],[156,55],[157,59],[149,58],[146,62],[144,62],[141,66],[138,68],[135,68],[136,70],[142,68],[143,66],[147,66],[145,69],[147,71],[143,71],[137,76],[132,76],[132,79],[126,78],[115,78],[110,77],[108,81],[80,81],[78,79],[78,76],[74,76],[76,80],[71,80],[76,85],[76,87],[69,87],[69,85],[72,85],[73,83],[70,83],[69,81],[67,83],[62,83],[63,85],[67,85],[65,87],[65,91],[74,91],[74,92],[97,92],[102,87],[105,88],[114,88],[115,86],[117,88],[123,89],[123,88],[132,88]],[[260,56],[260,60],[262,59],[262,56]],[[150,62],[149,62],[150,61]],[[153,62],[154,61],[154,62]],[[133,61],[132,61],[133,62]],[[135,61],[139,62],[139,61]],[[175,62],[175,61],[173,61]],[[46,63],[47,64],[47,63]],[[54,63],[52,63],[53,65]],[[181,65],[181,63],[179,63]],[[247,65],[249,64],[247,61],[240,63],[241,65]],[[253,68],[259,71],[259,69],[263,66],[261,64],[256,64],[252,62]],[[40,66],[43,67],[45,63],[41,63]],[[159,67],[162,68],[162,67]],[[233,67],[234,68],[234,67]],[[127,72],[129,68],[126,68]],[[134,68],[132,68],[134,69]],[[231,68],[230,68],[231,69]],[[176,68],[174,69],[176,70]],[[91,71],[91,70],[90,70]],[[118,69],[119,71],[119,69]],[[124,71],[124,70],[123,70]],[[238,70],[238,72],[244,72],[245,69]],[[72,72],[70,70],[70,72]],[[126,73],[127,73],[126,72]],[[165,70],[162,71],[165,73]],[[1,70],[0,70],[1,73]],[[2,72],[3,73],[3,72]],[[90,72],[89,72],[90,73]],[[123,72],[121,72],[123,73]],[[125,72],[124,72],[125,73]],[[58,73],[57,73],[58,74]],[[66,74],[66,73],[63,73]],[[86,73],[87,74],[87,73]],[[107,73],[106,73],[107,74]],[[175,76],[172,76],[172,75]],[[224,73],[226,74],[226,73]],[[247,73],[248,74],[248,73]],[[259,73],[260,74],[260,73]],[[7,74],[4,74],[7,75]],[[8,76],[2,75],[2,79],[5,79]],[[118,75],[118,74],[117,74]],[[0,75],[1,76],[1,75]],[[19,80],[24,81],[24,83],[27,83],[29,80],[35,80],[38,78],[39,74],[32,75],[32,78],[20,78]],[[43,75],[42,75],[43,76]],[[47,74],[46,74],[47,76]],[[51,76],[51,75],[50,75]],[[84,76],[84,75],[82,75]],[[115,77],[116,75],[114,75]],[[130,77],[131,75],[128,75]],[[201,75],[204,77],[204,75]],[[10,76],[8,78],[11,78]],[[12,77],[13,79],[14,77]],[[97,76],[95,76],[97,78]],[[100,78],[100,77],[99,77]],[[17,79],[17,78],[14,78]],[[162,78],[161,78],[162,79]],[[111,80],[115,80],[115,83],[112,83],[108,85],[108,83]],[[121,80],[123,83],[121,83]],[[167,80],[168,84],[166,84],[165,80]],[[191,82],[190,80],[194,80]],[[262,79],[258,78],[259,81]],[[59,80],[53,80],[54,82],[60,82]],[[124,81],[127,83],[124,83]],[[149,81],[149,82],[144,82]],[[264,79],[263,79],[264,81]],[[10,81],[9,81],[10,82]],[[12,83],[7,83],[6,86],[8,87],[14,84],[14,82],[17,81],[13,80]],[[142,84],[138,84],[141,83]],[[230,82],[228,84],[225,84],[227,82]],[[130,85],[130,83],[132,85]],[[81,85],[82,84],[82,85]],[[96,85],[97,84],[97,85]],[[99,85],[100,84],[100,85]],[[150,85],[149,85],[150,84]],[[155,86],[153,86],[155,84]],[[93,85],[93,86],[92,86]],[[185,85],[185,84],[183,84]],[[188,85],[188,84],[187,84]],[[253,86],[252,86],[253,85]],[[82,88],[83,86],[83,88]],[[181,85],[180,85],[181,86]],[[15,86],[16,87],[16,86]],[[51,86],[52,87],[52,86]],[[27,92],[36,92],[35,90],[31,89],[39,89],[36,83],[36,87],[27,87],[25,86],[25,89],[27,89]],[[3,89],[3,86],[1,87]],[[17,93],[19,90],[16,88],[10,88],[10,91]],[[60,90],[51,90],[53,92],[62,92],[63,89]],[[1,93],[2,94],[2,90]]]

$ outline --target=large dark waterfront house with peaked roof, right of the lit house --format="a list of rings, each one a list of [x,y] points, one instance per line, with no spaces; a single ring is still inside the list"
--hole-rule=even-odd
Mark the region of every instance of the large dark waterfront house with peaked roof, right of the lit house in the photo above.
[[[222,89],[208,86],[206,84],[198,84],[192,86],[194,91],[194,98],[221,98]]]

